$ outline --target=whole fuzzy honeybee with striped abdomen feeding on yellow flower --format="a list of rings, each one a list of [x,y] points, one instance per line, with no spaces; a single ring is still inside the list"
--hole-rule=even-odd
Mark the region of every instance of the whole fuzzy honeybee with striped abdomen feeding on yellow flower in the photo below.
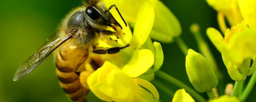
[[[72,10],[63,19],[57,32],[46,40],[43,47],[22,63],[15,73],[13,81],[26,76],[57,49],[54,52],[60,86],[71,100],[85,100],[88,88],[81,85],[79,75],[81,71],[85,71],[84,63],[90,57],[90,53],[115,54],[121,49],[129,47],[129,44],[109,49],[97,47],[98,39],[101,36],[116,35],[118,37],[117,32],[122,31],[122,26],[109,12],[110,9],[115,7],[125,26],[127,24],[116,5],[107,9],[100,0],[85,0],[83,2],[83,6]],[[107,27],[111,27],[113,30],[108,30]],[[59,37],[53,41],[56,36]]]

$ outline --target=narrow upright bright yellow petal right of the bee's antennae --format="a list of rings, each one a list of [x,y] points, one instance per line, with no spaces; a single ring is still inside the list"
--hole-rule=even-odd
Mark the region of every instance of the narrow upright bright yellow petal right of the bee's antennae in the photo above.
[[[136,4],[136,3],[135,3]],[[136,23],[134,26],[131,46],[134,49],[141,47],[147,40],[148,35],[152,29],[155,19],[155,12],[152,5],[145,2],[138,12]]]

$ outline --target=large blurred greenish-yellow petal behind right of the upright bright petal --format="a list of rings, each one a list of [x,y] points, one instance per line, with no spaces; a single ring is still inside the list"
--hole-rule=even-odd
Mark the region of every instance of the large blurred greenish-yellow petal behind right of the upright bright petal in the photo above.
[[[150,4],[156,13],[150,37],[164,43],[172,42],[174,37],[181,34],[180,22],[161,1],[153,0]]]

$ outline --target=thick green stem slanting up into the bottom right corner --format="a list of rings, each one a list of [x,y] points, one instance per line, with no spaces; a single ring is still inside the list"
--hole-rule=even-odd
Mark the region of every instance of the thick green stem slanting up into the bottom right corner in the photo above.
[[[242,95],[239,97],[239,99],[241,100],[241,102],[244,102],[245,99],[248,97],[248,95],[250,94],[250,92],[252,91],[252,88],[254,86],[256,82],[256,72],[254,72],[252,74],[252,77],[250,79],[250,81],[248,82],[248,84],[246,85],[244,92],[242,93]]]

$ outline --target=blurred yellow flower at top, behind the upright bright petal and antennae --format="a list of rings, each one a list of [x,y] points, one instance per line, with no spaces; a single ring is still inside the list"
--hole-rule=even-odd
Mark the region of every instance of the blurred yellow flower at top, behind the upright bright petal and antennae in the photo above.
[[[150,33],[150,37],[152,39],[169,43],[173,40],[173,37],[180,36],[181,34],[179,21],[159,0],[104,0],[104,2],[107,6],[115,4],[124,16],[124,19],[134,28],[136,28],[135,22],[138,21],[138,17],[140,15],[140,12],[138,12],[140,6],[145,2],[148,2],[154,7],[156,15],[155,22]],[[147,19],[148,17],[143,18]]]

